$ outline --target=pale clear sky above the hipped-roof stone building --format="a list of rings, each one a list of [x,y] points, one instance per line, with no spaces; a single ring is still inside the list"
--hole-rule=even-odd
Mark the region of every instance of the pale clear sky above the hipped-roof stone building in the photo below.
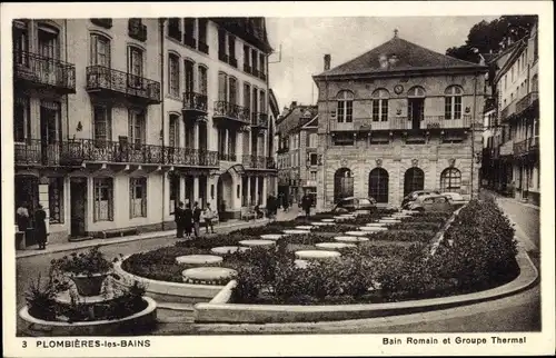
[[[269,59],[270,87],[280,109],[291,101],[312,105],[317,90],[311,76],[322,72],[325,53],[330,53],[334,68],[389,41],[395,29],[407,41],[445,53],[449,47],[464,44],[475,23],[496,18],[267,18],[269,41],[276,52]]]

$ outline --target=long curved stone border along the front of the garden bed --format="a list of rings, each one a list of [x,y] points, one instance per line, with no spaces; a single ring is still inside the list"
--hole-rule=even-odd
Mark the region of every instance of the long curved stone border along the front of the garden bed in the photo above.
[[[523,250],[518,251],[516,260],[520,272],[515,280],[489,290],[474,294],[403,302],[335,306],[244,305],[221,302],[219,299],[215,302],[195,305],[195,321],[212,324],[334,321],[398,316],[471,305],[516,295],[532,287],[538,279],[537,269]],[[227,289],[231,290],[230,288]],[[220,297],[225,298],[231,295],[222,294]]]

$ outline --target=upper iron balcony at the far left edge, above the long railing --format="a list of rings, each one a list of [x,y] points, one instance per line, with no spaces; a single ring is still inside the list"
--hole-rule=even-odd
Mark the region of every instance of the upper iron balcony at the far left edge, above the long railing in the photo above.
[[[13,53],[13,79],[26,87],[76,93],[75,64],[32,52]]]

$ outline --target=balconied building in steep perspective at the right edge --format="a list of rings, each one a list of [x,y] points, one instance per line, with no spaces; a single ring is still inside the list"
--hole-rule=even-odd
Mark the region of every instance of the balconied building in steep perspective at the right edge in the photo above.
[[[498,61],[494,78],[502,126],[498,188],[539,203],[538,38],[535,23]],[[508,192],[509,193],[509,192]]]

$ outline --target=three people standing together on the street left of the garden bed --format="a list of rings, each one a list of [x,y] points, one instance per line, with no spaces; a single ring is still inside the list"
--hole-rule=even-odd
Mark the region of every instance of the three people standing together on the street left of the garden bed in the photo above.
[[[176,210],[171,213],[173,215],[176,221],[176,237],[179,239],[183,238],[183,232],[187,239],[191,238],[192,235],[195,235],[196,238],[200,237],[201,216],[205,219],[207,233],[209,233],[209,227],[211,232],[215,233],[212,220],[215,219],[216,213],[210,208],[210,202],[207,202],[207,207],[202,210],[197,201],[195,201],[192,208],[190,203],[183,208],[183,202],[180,201],[176,207]]]

